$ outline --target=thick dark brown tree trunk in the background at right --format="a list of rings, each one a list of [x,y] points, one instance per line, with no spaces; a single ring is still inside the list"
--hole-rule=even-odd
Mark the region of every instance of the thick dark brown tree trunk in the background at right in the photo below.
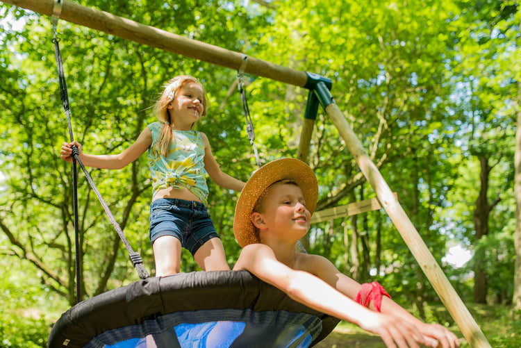
[[[490,213],[490,206],[488,205],[487,199],[488,175],[490,173],[488,158],[479,155],[479,163],[481,165],[481,172],[479,174],[481,187],[476,200],[476,210],[474,210],[476,242],[478,242],[484,235],[488,235],[488,215]],[[474,254],[474,258],[476,258],[474,262],[474,302],[478,304],[486,304],[488,284],[485,267],[483,265],[484,252],[477,252]]]

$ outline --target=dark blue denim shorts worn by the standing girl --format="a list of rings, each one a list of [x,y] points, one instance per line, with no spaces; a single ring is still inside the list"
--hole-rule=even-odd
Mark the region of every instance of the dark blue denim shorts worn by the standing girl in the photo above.
[[[181,247],[195,255],[212,238],[219,238],[204,204],[176,198],[160,198],[150,205],[150,242],[173,235]]]

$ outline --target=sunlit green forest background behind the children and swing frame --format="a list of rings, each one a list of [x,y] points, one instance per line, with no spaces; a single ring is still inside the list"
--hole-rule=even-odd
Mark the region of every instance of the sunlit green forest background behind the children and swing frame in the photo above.
[[[518,1],[75,2],[331,78],[340,110],[456,292],[465,304],[479,304],[472,308],[506,315],[502,331],[484,330],[493,347],[515,347]],[[52,322],[76,303],[72,172],[59,158],[67,119],[49,17],[2,3],[0,27],[0,347],[47,347]],[[246,181],[256,169],[234,89],[237,72],[64,21],[58,36],[72,129],[85,152],[129,146],[154,122],[150,106],[163,83],[192,74],[210,97],[197,129],[208,135],[224,172]],[[308,91],[246,78],[261,162],[295,157]],[[308,162],[320,185],[317,210],[375,197],[322,110]],[[154,275],[146,156],[119,171],[89,171]],[[210,183],[208,208],[230,265],[240,252],[232,232],[237,198]],[[138,280],[81,171],[78,201],[83,298]],[[424,320],[454,325],[433,309],[438,296],[385,210],[315,224],[308,243],[354,279],[383,283]],[[449,256],[457,250],[468,258],[458,256],[456,264]],[[181,270],[198,270],[184,252]]]

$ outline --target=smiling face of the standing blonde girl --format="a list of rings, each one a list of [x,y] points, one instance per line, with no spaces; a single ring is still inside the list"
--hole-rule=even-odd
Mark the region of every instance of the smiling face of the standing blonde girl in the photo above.
[[[176,127],[195,124],[204,112],[204,90],[199,83],[190,81],[176,91],[167,108]],[[189,128],[190,128],[189,127]]]

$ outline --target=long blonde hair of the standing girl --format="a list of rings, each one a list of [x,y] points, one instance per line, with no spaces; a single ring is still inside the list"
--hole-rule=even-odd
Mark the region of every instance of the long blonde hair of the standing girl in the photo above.
[[[156,144],[156,147],[158,148],[160,154],[162,156],[167,156],[168,151],[170,149],[170,144],[172,143],[173,136],[172,136],[172,126],[175,126],[172,122],[172,117],[170,115],[170,112],[168,110],[168,104],[172,103],[174,100],[177,91],[183,87],[186,83],[189,82],[195,82],[201,86],[203,89],[203,114],[201,116],[206,116],[206,110],[208,108],[208,97],[206,96],[206,90],[204,89],[204,86],[201,82],[194,76],[190,75],[179,75],[172,79],[170,79],[164,86],[163,86],[163,93],[161,93],[158,101],[156,101],[156,104],[154,105],[154,114],[156,114],[157,119],[163,123],[163,129],[161,130],[161,135],[159,137],[159,140]]]

